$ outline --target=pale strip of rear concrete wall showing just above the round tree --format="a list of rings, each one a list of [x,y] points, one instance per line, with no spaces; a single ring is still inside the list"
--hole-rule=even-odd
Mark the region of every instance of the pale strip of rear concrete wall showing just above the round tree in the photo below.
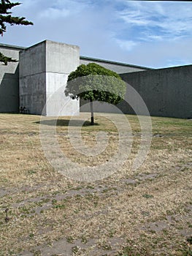
[[[118,63],[115,61],[105,61],[102,59],[93,59],[93,58],[80,56],[80,64],[87,65],[88,63],[93,63],[93,62],[101,65],[102,67],[105,67],[106,69],[110,69],[118,74],[150,70],[150,68],[147,68],[147,67],[140,67],[140,66],[131,65],[131,64]]]

